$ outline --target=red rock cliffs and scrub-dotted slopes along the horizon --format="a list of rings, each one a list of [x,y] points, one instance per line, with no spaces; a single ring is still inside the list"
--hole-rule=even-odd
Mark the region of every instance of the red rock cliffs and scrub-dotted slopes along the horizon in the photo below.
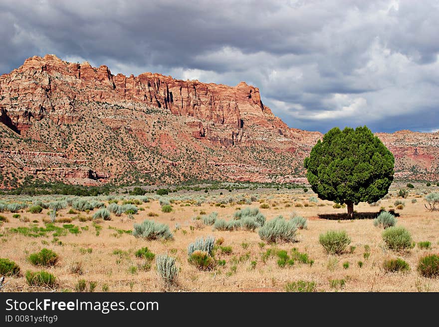
[[[259,90],[32,57],[0,76],[0,187],[68,183],[303,181],[321,138],[289,128]],[[436,178],[439,133],[379,134],[400,177]]]

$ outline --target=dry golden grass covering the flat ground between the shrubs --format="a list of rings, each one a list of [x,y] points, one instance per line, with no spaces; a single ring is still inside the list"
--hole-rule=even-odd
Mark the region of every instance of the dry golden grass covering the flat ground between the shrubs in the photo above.
[[[60,259],[55,267],[47,268],[47,271],[56,276],[57,291],[74,290],[79,279],[97,282],[96,291],[101,291],[105,284],[109,286],[109,291],[113,292],[163,291],[164,287],[157,277],[154,262],[149,271],[142,269],[138,269],[135,273],[130,271],[131,266],[141,266],[144,262],[143,259],[137,259],[134,252],[147,246],[156,255],[168,253],[177,258],[181,271],[178,276],[178,286],[174,291],[283,291],[286,283],[305,280],[316,282],[318,291],[329,292],[335,290],[347,292],[438,292],[438,280],[420,277],[416,266],[422,255],[439,252],[439,214],[427,212],[423,199],[418,199],[418,202],[413,204],[411,199],[417,196],[413,190],[411,192],[409,198],[403,199],[404,209],[397,210],[401,215],[398,218],[398,225],[405,226],[412,233],[415,242],[431,241],[432,248],[429,250],[415,247],[408,253],[389,251],[384,247],[381,238],[383,229],[374,227],[371,219],[342,221],[320,219],[317,217],[319,214],[344,213],[346,209],[334,209],[333,203],[329,201],[319,200],[318,204],[309,202],[309,197],[316,196],[315,194],[312,192],[303,194],[299,190],[291,190],[283,193],[267,191],[265,194],[260,194],[260,199],[265,199],[263,203],[270,205],[268,209],[260,209],[260,211],[267,219],[278,215],[288,218],[292,212],[308,218],[308,228],[298,231],[295,243],[274,245],[265,243],[261,248],[259,245],[261,240],[257,231],[213,231],[212,226],[205,226],[199,222],[196,225],[191,220],[192,217],[200,215],[201,211],[205,211],[207,214],[216,211],[219,213],[219,218],[228,220],[236,208],[242,209],[247,205],[226,205],[225,208],[221,208],[209,204],[197,207],[194,205],[181,206],[181,203],[175,203],[172,213],[162,213],[158,201],[151,201],[139,206],[148,209],[139,211],[138,215],[134,215],[134,220],[128,219],[126,215],[122,217],[112,215],[111,221],[101,221],[99,226],[102,229],[98,236],[93,221],[75,219],[72,223],[79,226],[80,230],[81,227],[87,228],[87,226],[88,230],[81,230],[81,233],[77,235],[67,233],[65,236],[60,236],[59,240],[62,244],[52,242],[51,233],[48,233],[46,237],[34,238],[8,232],[10,227],[29,226],[34,219],[38,220],[39,226],[43,226],[42,220],[48,217],[47,210],[41,214],[30,214],[25,211],[20,213],[22,217],[28,217],[30,222],[21,222],[18,218],[12,218],[12,214],[3,213],[2,215],[7,217],[9,221],[3,222],[0,227],[0,234],[2,234],[0,237],[0,257],[15,261],[21,267],[23,274],[26,270],[39,269],[27,261],[29,253],[39,251],[43,247],[54,250]],[[396,194],[396,191],[393,190],[392,193]],[[358,212],[378,212],[380,207],[389,209],[396,199],[393,196],[391,199],[382,200],[378,207],[362,203],[354,209]],[[253,202],[251,207],[259,208],[260,202]],[[302,205],[306,203],[309,206],[295,207],[296,203]],[[273,207],[273,204],[276,206]],[[322,206],[322,204],[325,205]],[[67,211],[68,208],[60,211],[60,217],[74,218],[76,216],[68,215]],[[82,216],[92,216],[93,213],[90,212],[88,215],[82,213]],[[154,217],[149,213],[155,213],[158,216]],[[109,228],[111,226],[117,229],[131,230],[133,222],[142,222],[144,219],[153,219],[168,224],[174,233],[174,240],[149,241],[127,233],[119,234],[115,229]],[[180,224],[181,229],[174,230],[176,223]],[[62,227],[63,223],[55,223],[55,225]],[[196,228],[191,228],[191,225]],[[318,238],[320,233],[330,229],[346,230],[352,238],[351,245],[356,247],[355,251],[340,256],[325,254]],[[217,266],[213,271],[199,271],[188,263],[187,247],[197,237],[207,235],[214,235],[217,239],[222,237],[224,239],[222,246],[231,246],[232,253],[223,255],[217,251],[217,258],[225,260],[226,265],[224,267]],[[242,243],[247,243],[248,247],[243,248]],[[365,245],[370,247],[370,256],[367,259],[364,258]],[[309,257],[314,260],[314,264],[310,266],[296,262],[291,267],[280,268],[275,257],[269,258],[264,263],[261,259],[261,253],[267,248],[274,247],[288,250],[288,252],[293,247],[297,247],[299,251],[308,253]],[[88,248],[92,249],[91,253],[90,250],[87,251]],[[127,254],[115,255],[113,254],[115,249],[126,251]],[[248,259],[246,254],[248,254]],[[383,261],[386,258],[397,256],[404,258],[410,264],[411,271],[406,274],[385,273],[382,269]],[[254,269],[251,268],[251,261],[256,261]],[[358,261],[363,262],[361,268],[358,266]],[[348,269],[343,268],[344,262],[350,263]],[[330,264],[328,265],[328,263]],[[75,271],[73,268],[77,267],[78,264],[83,272],[81,275],[72,272]],[[329,282],[333,279],[344,279],[346,284],[343,288],[333,289]],[[8,282],[9,284],[5,286],[4,291],[33,292],[40,290],[27,286],[25,278],[22,276],[8,278]]]

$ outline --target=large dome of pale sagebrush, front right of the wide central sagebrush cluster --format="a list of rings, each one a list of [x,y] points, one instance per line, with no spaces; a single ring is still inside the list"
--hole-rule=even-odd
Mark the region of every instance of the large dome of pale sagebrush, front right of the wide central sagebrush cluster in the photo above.
[[[293,242],[297,231],[297,225],[291,220],[286,221],[282,216],[278,216],[259,228],[259,237],[271,242]]]

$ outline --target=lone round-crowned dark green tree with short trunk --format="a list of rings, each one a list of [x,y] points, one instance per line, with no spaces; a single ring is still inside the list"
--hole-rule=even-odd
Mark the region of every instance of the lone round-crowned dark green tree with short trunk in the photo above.
[[[383,198],[393,181],[395,158],[372,131],[364,127],[332,128],[305,158],[306,177],[322,200],[354,205]]]

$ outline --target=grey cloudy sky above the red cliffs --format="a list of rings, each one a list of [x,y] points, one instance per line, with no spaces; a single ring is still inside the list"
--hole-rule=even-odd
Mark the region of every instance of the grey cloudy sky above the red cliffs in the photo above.
[[[31,56],[258,87],[290,127],[439,129],[435,0],[1,0],[0,74]]]

